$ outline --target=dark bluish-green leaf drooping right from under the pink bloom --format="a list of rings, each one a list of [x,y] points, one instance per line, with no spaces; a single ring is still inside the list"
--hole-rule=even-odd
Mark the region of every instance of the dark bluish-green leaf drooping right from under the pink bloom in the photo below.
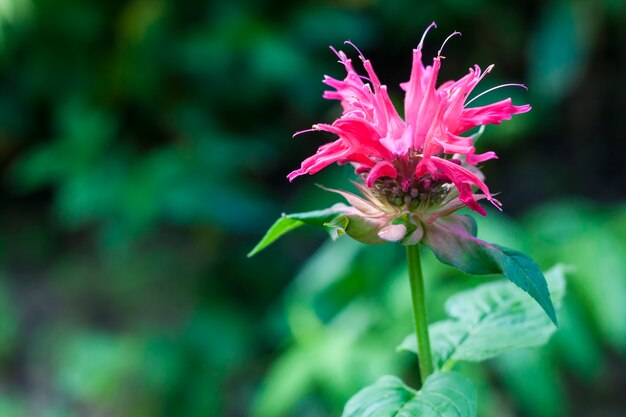
[[[469,216],[442,217],[427,226],[423,243],[441,262],[467,274],[503,274],[530,294],[557,324],[546,279],[535,261],[521,252],[476,238],[476,230]]]

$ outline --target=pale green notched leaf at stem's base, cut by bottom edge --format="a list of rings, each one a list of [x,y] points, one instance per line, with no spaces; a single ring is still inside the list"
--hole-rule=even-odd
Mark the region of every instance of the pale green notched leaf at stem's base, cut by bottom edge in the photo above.
[[[342,417],[473,417],[476,391],[454,372],[429,376],[421,390],[406,386],[394,376],[383,376],[352,397]]]

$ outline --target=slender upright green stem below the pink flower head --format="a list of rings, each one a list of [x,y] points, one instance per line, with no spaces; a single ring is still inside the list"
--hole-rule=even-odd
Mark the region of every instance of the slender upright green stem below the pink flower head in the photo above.
[[[408,245],[406,256],[409,263],[409,281],[411,284],[411,298],[413,300],[413,319],[417,336],[417,357],[420,366],[422,384],[433,373],[433,359],[430,353],[430,338],[428,336],[428,317],[424,298],[424,276],[420,262],[419,245]]]

